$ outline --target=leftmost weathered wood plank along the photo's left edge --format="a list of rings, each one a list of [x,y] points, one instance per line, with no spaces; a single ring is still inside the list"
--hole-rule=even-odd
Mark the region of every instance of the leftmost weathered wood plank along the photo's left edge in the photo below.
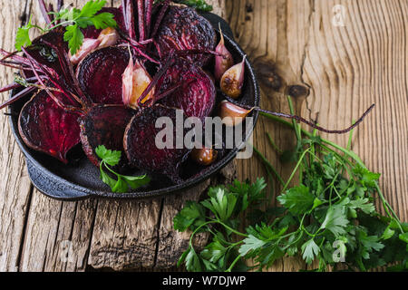
[[[24,22],[26,1],[0,2],[0,47],[15,49],[15,33]],[[0,87],[13,82],[14,70],[0,68]],[[8,92],[0,95],[0,102],[8,99]],[[0,271],[17,271],[24,223],[30,203],[32,187],[25,169],[24,156],[15,143],[8,117],[0,115]]]

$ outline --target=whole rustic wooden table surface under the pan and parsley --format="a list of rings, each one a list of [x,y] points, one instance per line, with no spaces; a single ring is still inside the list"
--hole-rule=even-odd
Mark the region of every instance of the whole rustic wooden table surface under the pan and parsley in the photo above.
[[[7,2],[5,4],[5,2]],[[74,1],[83,3],[85,1]],[[118,1],[113,1],[118,2]],[[262,107],[288,111],[290,85],[306,87],[296,112],[330,128],[344,128],[372,103],[374,112],[358,128],[353,149],[368,167],[382,172],[381,186],[400,218],[408,220],[408,1],[407,0],[214,0],[238,43],[255,64],[262,86]],[[39,20],[36,1],[0,1],[0,46],[13,50],[24,12]],[[25,19],[26,20],[26,19]],[[281,86],[276,82],[281,77]],[[1,68],[0,84],[13,80]],[[2,99],[8,97],[2,94]],[[92,268],[160,269],[174,265],[186,236],[171,230],[171,219],[187,198],[141,202],[45,198],[27,176],[23,154],[0,116],[0,271],[85,271]],[[260,120],[255,144],[283,176],[265,133],[277,146],[294,146],[291,131]],[[346,136],[324,136],[340,145]],[[265,172],[256,158],[238,160],[238,179]],[[227,176],[227,177],[226,177]],[[233,167],[224,179],[234,177]],[[271,270],[305,267],[283,259]]]

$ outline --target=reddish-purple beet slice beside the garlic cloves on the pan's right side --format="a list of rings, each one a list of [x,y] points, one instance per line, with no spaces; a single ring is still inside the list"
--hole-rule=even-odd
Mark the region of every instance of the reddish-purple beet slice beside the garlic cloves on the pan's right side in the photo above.
[[[180,89],[162,101],[169,107],[182,109],[186,117],[208,117],[216,101],[214,82],[199,66],[178,60],[158,84],[160,92],[180,84]]]

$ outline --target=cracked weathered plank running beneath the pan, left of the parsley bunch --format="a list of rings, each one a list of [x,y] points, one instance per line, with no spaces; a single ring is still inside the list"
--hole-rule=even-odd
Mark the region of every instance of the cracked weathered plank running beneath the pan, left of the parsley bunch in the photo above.
[[[83,3],[86,1],[78,0],[75,5]],[[222,11],[220,3],[214,2],[218,11]],[[36,3],[33,11],[35,19],[42,19]],[[187,198],[198,199],[209,183],[180,194],[174,204],[168,198],[62,202],[34,190],[21,270],[84,271],[88,265],[115,270],[174,266],[188,239],[172,229],[174,207],[181,208]],[[177,243],[170,245],[175,239],[169,237],[175,237]]]

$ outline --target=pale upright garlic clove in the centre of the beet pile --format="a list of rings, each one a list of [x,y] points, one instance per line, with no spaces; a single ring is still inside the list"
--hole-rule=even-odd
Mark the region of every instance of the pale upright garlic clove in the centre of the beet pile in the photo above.
[[[129,60],[129,65],[122,75],[122,99],[123,103],[133,109],[139,108],[139,98],[141,94],[146,90],[146,88],[151,83],[151,76],[146,71],[146,69],[136,60],[133,63],[133,59]],[[153,99],[154,88],[149,92],[149,94],[144,98],[142,103]]]

